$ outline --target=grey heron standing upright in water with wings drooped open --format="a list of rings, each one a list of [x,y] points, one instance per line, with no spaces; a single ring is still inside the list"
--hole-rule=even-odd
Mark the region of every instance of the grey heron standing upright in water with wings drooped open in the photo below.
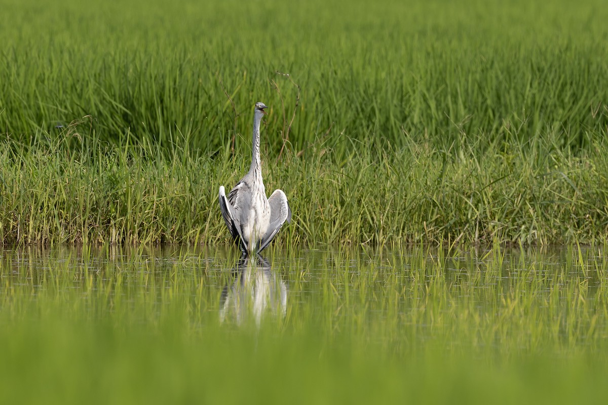
[[[260,122],[267,114],[264,103],[255,103],[254,140],[249,172],[228,193],[219,186],[219,208],[233,239],[245,255],[268,247],[285,221],[291,222],[291,209],[285,192],[275,190],[269,199],[260,165]]]

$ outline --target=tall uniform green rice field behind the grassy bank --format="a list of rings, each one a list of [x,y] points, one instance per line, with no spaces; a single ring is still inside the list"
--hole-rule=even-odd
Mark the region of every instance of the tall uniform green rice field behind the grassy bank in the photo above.
[[[602,1],[142,2],[3,0],[5,136],[57,136],[91,115],[101,140],[223,151],[271,106],[266,142],[318,137],[484,151],[606,137]],[[299,104],[295,100],[300,86]],[[227,95],[229,97],[227,97]],[[232,100],[233,104],[229,100]],[[292,115],[290,130],[289,123]],[[288,133],[289,132],[289,133]],[[287,139],[288,138],[288,139]]]

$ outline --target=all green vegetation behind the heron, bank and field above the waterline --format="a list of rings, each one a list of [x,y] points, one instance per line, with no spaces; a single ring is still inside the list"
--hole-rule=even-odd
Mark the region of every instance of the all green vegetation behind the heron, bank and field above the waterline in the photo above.
[[[608,232],[601,1],[2,10],[5,243],[225,242],[217,189],[246,171],[258,100],[294,242]]]

